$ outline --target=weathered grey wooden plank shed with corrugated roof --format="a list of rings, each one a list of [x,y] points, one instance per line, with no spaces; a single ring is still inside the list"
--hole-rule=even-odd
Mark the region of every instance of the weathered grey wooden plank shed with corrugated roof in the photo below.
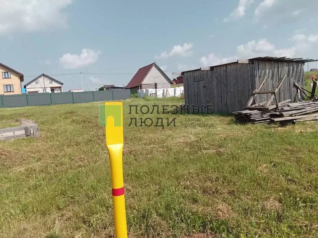
[[[240,111],[265,76],[262,91],[275,89],[285,75],[277,100],[294,102],[294,83],[304,87],[304,64],[313,61],[317,60],[267,56],[182,72],[185,105],[197,109],[201,109],[201,105],[214,105],[216,113]],[[259,94],[255,102],[267,101],[269,97],[270,94]],[[205,112],[206,108],[203,110]]]

